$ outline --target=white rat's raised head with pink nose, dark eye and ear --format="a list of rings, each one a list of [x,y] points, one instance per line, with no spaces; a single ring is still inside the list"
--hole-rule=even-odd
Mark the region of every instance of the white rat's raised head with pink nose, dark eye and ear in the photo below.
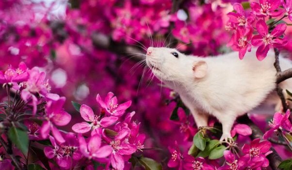
[[[207,63],[180,53],[175,48],[148,47],[146,63],[162,81],[180,82],[189,78],[202,78],[207,74]]]

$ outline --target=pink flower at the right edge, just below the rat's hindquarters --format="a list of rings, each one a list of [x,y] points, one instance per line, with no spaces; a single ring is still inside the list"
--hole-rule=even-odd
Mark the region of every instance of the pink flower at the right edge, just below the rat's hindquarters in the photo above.
[[[282,113],[276,112],[274,114],[272,122],[269,122],[270,130],[266,131],[263,135],[263,139],[268,139],[277,129],[282,128],[288,131],[292,131],[292,124],[289,121],[290,110],[288,109],[283,115]]]

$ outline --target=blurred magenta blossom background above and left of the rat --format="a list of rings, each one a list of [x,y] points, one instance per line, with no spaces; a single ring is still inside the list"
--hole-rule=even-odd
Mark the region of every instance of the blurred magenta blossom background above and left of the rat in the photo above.
[[[143,54],[148,46],[197,56],[229,52],[226,14],[242,1],[1,0],[0,70],[23,61],[46,71],[51,92],[66,97],[73,117],[68,131],[81,119],[71,101],[98,112],[97,93],[132,100],[129,111],[136,111],[146,148],[162,148],[144,154],[167,163],[167,146],[177,139],[188,149],[192,137],[184,138],[184,124],[169,120],[176,103],[166,104],[171,91],[151,76]]]

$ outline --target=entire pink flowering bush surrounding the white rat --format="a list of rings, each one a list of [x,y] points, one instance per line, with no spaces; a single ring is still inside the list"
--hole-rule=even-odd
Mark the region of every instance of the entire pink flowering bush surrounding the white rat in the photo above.
[[[291,170],[288,90],[269,127],[250,115],[220,142],[139,65],[148,46],[291,53],[292,1],[242,1],[1,1],[0,170]]]

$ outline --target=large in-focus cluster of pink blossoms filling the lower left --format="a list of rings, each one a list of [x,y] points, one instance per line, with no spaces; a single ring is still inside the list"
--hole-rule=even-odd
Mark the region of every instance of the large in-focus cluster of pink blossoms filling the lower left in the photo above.
[[[69,170],[82,164],[86,165],[86,169],[92,169],[92,161],[96,161],[105,165],[106,169],[124,170],[125,161],[144,148],[146,135],[139,133],[140,123],[132,121],[135,112],[124,115],[131,101],[119,104],[114,93],[108,93],[104,101],[97,94],[97,103],[102,108],[98,114],[87,105],[80,106],[81,117],[86,122],[72,126],[76,135],[60,130],[60,126],[69,124],[71,114],[63,108],[65,97],[50,93],[46,74],[38,67],[29,69],[24,62],[17,69],[9,66],[6,71],[0,72],[0,84],[8,97],[0,105],[1,140],[9,139],[8,142],[14,143],[24,155],[30,152],[30,147],[35,147],[35,141],[49,139],[51,146],[46,144],[44,154],[56,162],[57,169]],[[16,131],[14,136],[12,131]],[[87,136],[89,131],[91,133]],[[17,138],[26,141],[17,141]],[[28,144],[29,140],[29,146],[23,144]],[[21,159],[29,158],[21,156]],[[90,163],[85,164],[86,161]],[[0,167],[12,170],[7,162],[11,163],[11,160],[1,160]],[[29,166],[21,161],[14,164]]]

